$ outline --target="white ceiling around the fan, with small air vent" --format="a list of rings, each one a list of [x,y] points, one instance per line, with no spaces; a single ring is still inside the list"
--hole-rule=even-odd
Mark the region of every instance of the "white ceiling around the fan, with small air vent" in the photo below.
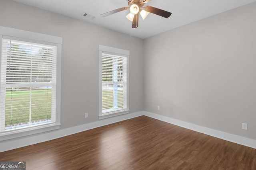
[[[139,27],[132,29],[132,22],[126,19],[129,10],[118,12],[106,18],[100,17],[100,14],[105,12],[128,6],[127,0],[13,1],[90,22],[142,39],[245,4],[256,2],[256,0],[151,0],[146,5],[172,12],[172,15],[168,19],[155,14],[149,14],[145,20],[142,20],[140,17]],[[89,15],[84,17],[84,13]],[[94,19],[92,19],[93,16],[95,16]]]

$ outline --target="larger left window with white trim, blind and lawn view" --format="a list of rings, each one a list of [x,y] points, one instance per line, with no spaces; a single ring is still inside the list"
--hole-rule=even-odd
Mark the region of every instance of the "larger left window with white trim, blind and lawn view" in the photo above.
[[[22,34],[9,36],[12,33]],[[0,27],[0,34],[0,136],[5,136],[1,138],[24,136],[26,131],[40,133],[42,130],[37,129],[43,128],[58,129],[60,44],[38,41],[42,34],[11,28],[6,31],[6,27]]]

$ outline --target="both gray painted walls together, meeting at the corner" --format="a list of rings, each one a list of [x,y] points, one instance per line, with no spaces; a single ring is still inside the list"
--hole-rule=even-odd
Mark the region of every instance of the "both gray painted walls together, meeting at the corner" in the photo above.
[[[0,0],[0,25],[63,37],[61,129],[98,121],[100,44],[130,50],[131,113],[256,139],[255,18],[253,3],[142,40]]]

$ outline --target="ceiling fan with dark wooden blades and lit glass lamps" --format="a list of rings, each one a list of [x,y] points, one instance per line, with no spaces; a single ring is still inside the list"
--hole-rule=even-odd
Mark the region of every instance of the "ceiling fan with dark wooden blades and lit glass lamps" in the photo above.
[[[132,28],[137,28],[139,24],[139,14],[138,14],[139,12],[143,20],[148,16],[149,13],[153,13],[158,16],[162,16],[164,18],[169,18],[172,14],[171,12],[167,12],[152,6],[144,6],[145,3],[148,3],[151,0],[127,0],[127,1],[130,7],[118,8],[116,10],[112,10],[110,12],[101,14],[100,16],[102,17],[110,16],[112,14],[115,14],[117,12],[121,12],[130,8],[130,13],[126,16],[126,18],[132,21]]]

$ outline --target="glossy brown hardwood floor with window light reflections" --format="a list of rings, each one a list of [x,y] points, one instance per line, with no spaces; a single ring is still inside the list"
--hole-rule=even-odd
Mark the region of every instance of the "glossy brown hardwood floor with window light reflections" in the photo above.
[[[0,153],[27,170],[256,170],[256,149],[146,116]]]

